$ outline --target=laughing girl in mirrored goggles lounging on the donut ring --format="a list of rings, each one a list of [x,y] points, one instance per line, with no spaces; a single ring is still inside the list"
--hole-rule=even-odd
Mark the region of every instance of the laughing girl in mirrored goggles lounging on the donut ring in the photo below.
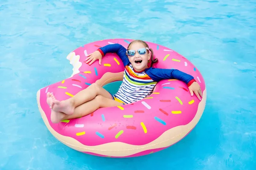
[[[116,53],[125,65],[122,84],[115,95],[111,95],[102,88],[99,83],[93,83],[86,89],[80,91],[70,99],[58,101],[53,94],[47,93],[47,103],[52,109],[51,121],[58,123],[64,119],[73,119],[96,111],[98,108],[113,107],[136,102],[150,95],[162,79],[178,79],[185,82],[191,96],[193,93],[201,100],[202,92],[195,79],[186,73],[175,69],[153,68],[153,50],[142,40],[134,40],[126,50],[120,44],[106,45],[89,54],[87,63],[91,65],[106,53]],[[148,60],[151,59],[151,67],[148,67]]]

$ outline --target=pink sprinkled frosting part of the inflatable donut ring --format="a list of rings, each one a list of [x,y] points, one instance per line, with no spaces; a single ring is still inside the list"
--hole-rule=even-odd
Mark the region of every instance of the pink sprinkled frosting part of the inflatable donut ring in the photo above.
[[[99,47],[110,43],[119,43],[127,48],[131,41],[128,39],[102,40],[77,48],[73,52],[80,56],[79,61],[82,63],[79,68],[80,73],[41,89],[41,108],[46,114],[50,126],[56,132],[64,136],[70,136],[82,144],[90,146],[108,142],[143,145],[152,142],[173,127],[186,125],[192,121],[200,100],[195,95],[190,96],[188,87],[184,82],[162,80],[157,83],[154,93],[148,96],[147,99],[123,105],[123,109],[118,107],[100,108],[90,115],[52,124],[50,121],[51,110],[46,103],[46,93],[53,92],[56,99],[65,100],[70,98],[70,94],[75,95],[82,89],[87,88],[89,84],[96,82],[106,72],[124,71],[122,60],[116,54],[107,54],[103,57],[101,65],[98,61],[92,65],[84,63],[87,58],[85,54],[90,54]],[[191,62],[169,48],[151,42],[147,43],[153,49],[154,56],[159,60],[153,67],[175,68],[186,72],[195,78],[201,86],[201,90],[204,91],[204,78]],[[191,102],[192,100],[194,102]],[[129,115],[128,117],[132,115],[132,117],[126,118],[125,115]],[[144,129],[142,124],[145,125]],[[136,154],[136,156],[150,152],[150,150],[144,151]]]

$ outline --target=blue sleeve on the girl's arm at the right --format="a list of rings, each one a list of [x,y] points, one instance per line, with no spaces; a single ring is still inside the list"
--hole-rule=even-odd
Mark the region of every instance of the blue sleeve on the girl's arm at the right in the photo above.
[[[194,77],[176,69],[165,69],[165,68],[148,68],[145,71],[151,79],[155,82],[159,82],[163,79],[178,79],[188,84]]]

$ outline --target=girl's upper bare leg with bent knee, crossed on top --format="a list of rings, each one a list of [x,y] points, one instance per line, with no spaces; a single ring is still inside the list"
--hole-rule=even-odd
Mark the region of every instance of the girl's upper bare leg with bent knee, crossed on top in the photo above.
[[[100,85],[93,83],[86,89],[79,91],[75,96],[67,100],[52,100],[52,110],[54,110],[55,112],[63,112],[70,115],[73,114],[74,109],[77,106],[94,99],[98,95],[101,95],[108,99],[112,99],[112,96],[108,91],[106,91]],[[52,97],[55,98],[53,95]]]

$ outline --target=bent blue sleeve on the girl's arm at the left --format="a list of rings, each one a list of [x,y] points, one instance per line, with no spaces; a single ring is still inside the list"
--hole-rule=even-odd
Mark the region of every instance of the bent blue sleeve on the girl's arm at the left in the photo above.
[[[116,53],[125,66],[130,63],[128,57],[126,56],[126,48],[120,44],[109,44],[101,47],[100,49],[103,51],[104,55],[106,55],[106,53]]]

